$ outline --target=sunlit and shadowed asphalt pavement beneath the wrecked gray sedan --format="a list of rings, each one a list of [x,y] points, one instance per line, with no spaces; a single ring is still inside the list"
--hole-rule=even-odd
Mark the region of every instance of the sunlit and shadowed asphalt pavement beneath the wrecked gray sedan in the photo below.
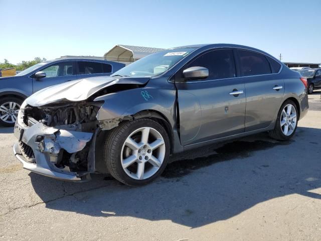
[[[319,240],[320,93],[292,141],[259,134],[200,148],[139,188],[23,170],[13,129],[0,127],[0,240]]]

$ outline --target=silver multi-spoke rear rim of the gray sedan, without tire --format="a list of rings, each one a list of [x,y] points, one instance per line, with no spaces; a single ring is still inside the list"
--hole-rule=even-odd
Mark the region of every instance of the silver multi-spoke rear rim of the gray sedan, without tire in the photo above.
[[[296,127],[296,110],[292,104],[284,106],[280,122],[283,134],[285,136],[290,136]]]

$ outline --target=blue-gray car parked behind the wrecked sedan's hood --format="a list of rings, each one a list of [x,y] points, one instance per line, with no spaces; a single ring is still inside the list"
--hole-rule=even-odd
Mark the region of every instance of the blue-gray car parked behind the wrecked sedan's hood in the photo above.
[[[13,77],[0,78],[0,125],[13,127],[22,102],[31,94],[70,80],[110,75],[125,65],[84,58],[59,58],[36,64]]]

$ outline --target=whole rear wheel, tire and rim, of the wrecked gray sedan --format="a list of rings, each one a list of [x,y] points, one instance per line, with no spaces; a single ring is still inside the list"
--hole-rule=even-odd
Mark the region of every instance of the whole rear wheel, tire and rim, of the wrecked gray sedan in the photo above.
[[[274,130],[269,132],[269,136],[276,140],[289,140],[296,131],[297,120],[298,111],[295,103],[291,100],[284,101],[277,114]]]

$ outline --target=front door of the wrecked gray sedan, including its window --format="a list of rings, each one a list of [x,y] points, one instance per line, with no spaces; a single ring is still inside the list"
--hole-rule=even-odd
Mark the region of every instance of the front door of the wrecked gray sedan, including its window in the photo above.
[[[209,77],[186,80],[183,70],[201,66]],[[244,132],[245,88],[236,78],[233,51],[211,50],[185,65],[175,76],[178,89],[182,145],[209,141]],[[233,94],[239,91],[239,94]]]

